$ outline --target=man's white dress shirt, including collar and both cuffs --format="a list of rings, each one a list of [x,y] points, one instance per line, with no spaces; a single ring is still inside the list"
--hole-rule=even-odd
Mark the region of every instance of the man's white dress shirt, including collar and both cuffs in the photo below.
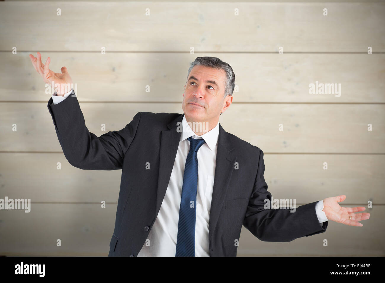
[[[64,97],[52,95],[53,103],[60,103],[71,92],[72,90],[67,92]],[[182,129],[187,129],[187,131],[181,132],[181,139],[166,194],[154,225],[138,256],[175,256],[184,166],[190,150],[188,137],[204,139],[205,141],[197,152],[198,186],[196,196],[195,256],[210,256],[209,219],[218,148],[219,122],[213,129],[202,136],[196,136],[187,124],[186,117],[183,116]],[[322,226],[323,222],[328,221],[325,212],[322,211],[323,201],[319,201],[315,209],[318,221]]]

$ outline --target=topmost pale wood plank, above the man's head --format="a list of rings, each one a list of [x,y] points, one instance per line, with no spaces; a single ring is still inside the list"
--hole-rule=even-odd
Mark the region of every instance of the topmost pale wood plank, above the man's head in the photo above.
[[[1,3],[0,50],[385,51],[383,3],[58,3]]]

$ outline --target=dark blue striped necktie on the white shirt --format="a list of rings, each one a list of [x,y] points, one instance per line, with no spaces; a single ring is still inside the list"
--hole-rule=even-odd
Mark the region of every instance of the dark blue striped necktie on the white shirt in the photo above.
[[[178,236],[175,256],[195,256],[196,191],[198,186],[198,149],[204,139],[189,137],[190,151],[184,167]]]

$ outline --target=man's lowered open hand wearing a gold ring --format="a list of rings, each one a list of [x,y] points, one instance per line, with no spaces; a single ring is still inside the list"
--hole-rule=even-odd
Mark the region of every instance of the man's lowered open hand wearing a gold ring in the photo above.
[[[363,226],[358,221],[369,219],[370,213],[355,213],[365,210],[363,206],[357,206],[354,208],[341,207],[338,203],[346,199],[345,195],[334,196],[333,198],[323,199],[323,212],[325,212],[328,220],[335,221],[350,226]],[[349,220],[349,216],[351,216]]]

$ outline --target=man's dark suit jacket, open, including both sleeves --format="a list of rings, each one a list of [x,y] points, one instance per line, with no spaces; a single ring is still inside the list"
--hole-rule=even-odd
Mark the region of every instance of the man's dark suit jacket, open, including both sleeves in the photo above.
[[[122,169],[109,256],[137,256],[154,224],[171,176],[184,114],[138,112],[120,131],[100,137],[88,131],[77,97],[48,102],[68,162],[80,169]],[[326,231],[317,202],[289,209],[264,209],[271,198],[264,180],[263,151],[219,124],[210,209],[210,256],[236,256],[242,224],[261,241],[289,242]],[[146,169],[150,162],[150,170]],[[238,162],[239,169],[234,163]]]

